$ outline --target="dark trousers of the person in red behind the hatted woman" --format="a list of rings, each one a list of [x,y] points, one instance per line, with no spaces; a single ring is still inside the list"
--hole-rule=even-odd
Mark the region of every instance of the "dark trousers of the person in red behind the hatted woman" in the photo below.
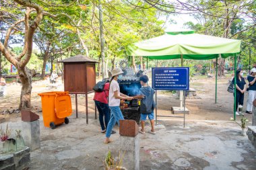
[[[101,130],[105,130],[106,129],[105,127],[108,126],[108,122],[110,118],[110,110],[109,110],[108,104],[102,103],[96,100],[94,100],[94,102],[98,109],[98,114],[99,114],[98,119],[100,120]],[[104,117],[104,121],[103,121],[103,117]]]

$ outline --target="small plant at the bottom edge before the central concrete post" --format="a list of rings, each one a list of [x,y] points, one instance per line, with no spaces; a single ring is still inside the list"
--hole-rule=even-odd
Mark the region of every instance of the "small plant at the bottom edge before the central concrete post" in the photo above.
[[[123,153],[123,156],[125,153]],[[117,160],[113,159],[113,156],[111,155],[110,151],[108,151],[108,154],[106,155],[106,158],[104,160],[104,170],[127,170],[125,167],[121,167],[123,162],[123,156],[120,157],[120,151],[119,151],[119,157]]]

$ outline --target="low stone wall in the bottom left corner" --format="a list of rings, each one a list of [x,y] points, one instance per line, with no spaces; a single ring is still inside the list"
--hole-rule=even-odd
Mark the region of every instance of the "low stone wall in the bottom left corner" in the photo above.
[[[30,148],[11,154],[0,155],[0,170],[23,170],[30,163]]]

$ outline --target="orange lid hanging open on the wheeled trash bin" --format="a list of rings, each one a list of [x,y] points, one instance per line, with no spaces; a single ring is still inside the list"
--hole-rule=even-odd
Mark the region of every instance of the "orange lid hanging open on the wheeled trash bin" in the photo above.
[[[57,95],[55,97],[55,111],[57,118],[71,116],[71,97],[69,95]]]

